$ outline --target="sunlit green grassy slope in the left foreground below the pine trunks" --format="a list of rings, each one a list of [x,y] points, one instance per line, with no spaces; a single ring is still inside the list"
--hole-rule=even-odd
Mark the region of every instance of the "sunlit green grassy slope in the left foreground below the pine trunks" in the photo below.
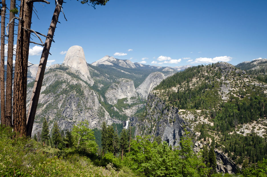
[[[44,147],[34,140],[13,136],[12,129],[0,126],[0,176],[15,170],[28,176],[135,176],[123,165],[117,169],[112,163],[99,166],[97,160],[73,149]]]

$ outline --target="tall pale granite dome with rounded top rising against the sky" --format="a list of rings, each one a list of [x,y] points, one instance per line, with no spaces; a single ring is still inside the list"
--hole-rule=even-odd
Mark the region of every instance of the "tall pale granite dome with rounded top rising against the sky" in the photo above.
[[[84,56],[84,51],[81,46],[70,47],[62,64],[74,69],[76,72],[78,72],[76,74],[78,74],[90,85],[94,84],[94,81],[92,80],[92,78],[90,78],[90,72]]]

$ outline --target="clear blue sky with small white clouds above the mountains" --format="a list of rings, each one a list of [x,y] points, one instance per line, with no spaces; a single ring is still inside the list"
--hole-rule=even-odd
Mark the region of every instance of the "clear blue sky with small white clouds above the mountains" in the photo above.
[[[33,13],[33,30],[47,34],[55,7],[50,2],[45,7],[34,4],[40,20]],[[68,21],[61,13],[50,64],[62,63],[65,54],[60,52],[73,45],[82,46],[88,63],[105,55],[159,66],[236,65],[267,58],[266,0],[110,0],[96,9],[66,2]],[[29,61],[38,64],[40,48],[30,46]]]

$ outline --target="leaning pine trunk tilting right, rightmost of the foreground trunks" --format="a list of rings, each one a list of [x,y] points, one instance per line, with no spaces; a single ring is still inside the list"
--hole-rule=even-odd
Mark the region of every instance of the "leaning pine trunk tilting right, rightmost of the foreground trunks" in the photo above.
[[[63,3],[63,0],[58,1],[58,4],[60,6],[62,6],[62,3]],[[35,78],[35,83],[33,86],[33,94],[31,97],[31,102],[30,102],[28,116],[27,116],[27,136],[31,136],[31,133],[33,130],[33,122],[34,122],[37,104],[39,101],[39,96],[40,96],[41,87],[42,87],[42,83],[43,83],[46,62],[47,62],[49,50],[51,47],[52,39],[53,39],[54,32],[56,29],[56,24],[58,22],[58,17],[59,17],[60,10],[61,10],[61,7],[59,5],[56,5],[55,10],[54,10],[52,21],[51,21],[50,27],[48,29],[48,34],[47,34],[48,38],[46,38],[45,43],[44,43],[43,52],[41,55],[37,75]]]

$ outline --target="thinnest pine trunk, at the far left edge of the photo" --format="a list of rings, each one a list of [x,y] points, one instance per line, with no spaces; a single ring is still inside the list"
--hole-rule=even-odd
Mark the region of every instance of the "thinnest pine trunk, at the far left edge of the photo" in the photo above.
[[[7,5],[5,0],[2,0],[1,12],[1,51],[0,51],[0,99],[1,99],[1,124],[5,122],[5,13]]]

